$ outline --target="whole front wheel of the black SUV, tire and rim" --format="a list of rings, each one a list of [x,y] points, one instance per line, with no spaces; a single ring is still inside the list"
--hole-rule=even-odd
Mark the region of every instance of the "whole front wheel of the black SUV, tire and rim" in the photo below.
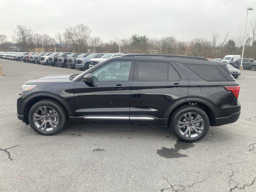
[[[42,135],[54,135],[64,128],[67,114],[64,107],[54,100],[36,102],[28,112],[32,129]]]

